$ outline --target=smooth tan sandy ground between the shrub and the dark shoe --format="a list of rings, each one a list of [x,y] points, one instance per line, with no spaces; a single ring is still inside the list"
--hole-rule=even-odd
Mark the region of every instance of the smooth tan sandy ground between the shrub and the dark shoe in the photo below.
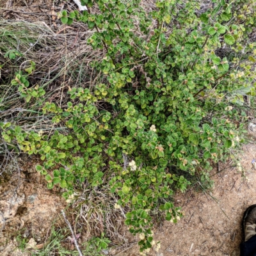
[[[243,212],[256,203],[256,171],[251,164],[255,152],[256,145],[247,145],[241,155],[240,163],[246,177],[237,167],[232,167],[232,163],[221,164],[222,171],[212,177],[215,182],[212,192],[197,193],[189,189],[184,194],[178,193],[175,204],[182,207],[185,216],[177,224],[164,221],[154,230],[154,240],[161,242],[161,249],[147,255],[238,256]],[[118,254],[135,255],[139,255],[138,246]]]

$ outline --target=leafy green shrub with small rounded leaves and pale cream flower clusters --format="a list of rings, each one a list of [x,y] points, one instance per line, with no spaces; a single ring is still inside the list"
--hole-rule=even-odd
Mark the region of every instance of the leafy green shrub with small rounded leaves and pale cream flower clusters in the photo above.
[[[61,20],[93,29],[88,44],[104,52],[91,62],[95,84],[70,88],[67,106],[45,102],[41,113],[68,132],[49,136],[7,123],[3,138],[40,154],[44,166],[36,170],[48,188],[66,188],[65,198],[77,181],[109,186],[118,205],[130,209],[132,234],[145,235],[145,250],[150,212],[164,211],[173,222],[182,216],[171,201],[175,189],[190,184],[184,173],[211,183],[212,163],[244,141],[244,97],[255,96],[253,1],[164,0],[150,12],[137,0],[82,3],[88,12],[63,11]],[[27,101],[26,93],[44,96],[20,81],[18,75],[13,84]]]

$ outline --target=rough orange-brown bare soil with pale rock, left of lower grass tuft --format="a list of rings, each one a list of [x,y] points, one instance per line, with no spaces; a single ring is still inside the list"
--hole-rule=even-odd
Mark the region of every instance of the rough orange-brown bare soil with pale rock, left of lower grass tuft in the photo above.
[[[67,203],[58,189],[47,189],[36,164],[31,157],[13,159],[0,177],[0,255],[25,255],[17,250],[17,236],[42,244],[53,223],[63,223],[60,212]]]

